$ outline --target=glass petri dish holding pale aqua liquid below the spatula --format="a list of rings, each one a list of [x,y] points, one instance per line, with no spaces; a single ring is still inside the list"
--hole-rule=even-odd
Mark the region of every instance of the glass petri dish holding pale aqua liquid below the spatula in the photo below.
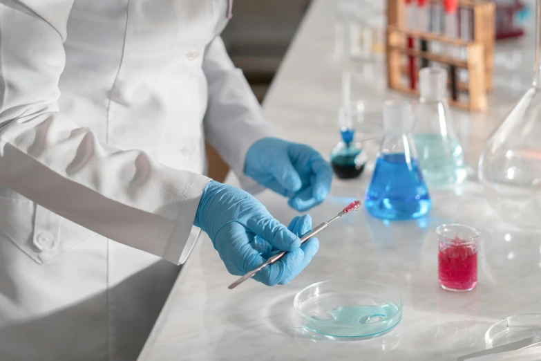
[[[395,328],[404,304],[392,286],[366,279],[312,284],[297,293],[293,306],[305,331],[332,338],[372,338]]]

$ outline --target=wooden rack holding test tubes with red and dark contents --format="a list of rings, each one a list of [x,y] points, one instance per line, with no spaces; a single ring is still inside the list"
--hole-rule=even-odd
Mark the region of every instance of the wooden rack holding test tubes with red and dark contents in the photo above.
[[[429,2],[430,4],[441,4],[442,0],[430,0]],[[407,28],[405,0],[388,0],[388,28],[386,32],[388,85],[391,89],[418,94],[417,89],[403,86],[399,81],[402,75],[410,75],[411,67],[404,66],[404,63],[401,62],[404,57],[415,57],[415,62],[419,65],[414,67],[417,70],[422,64],[421,59],[424,60],[424,63],[430,61],[444,66],[454,66],[457,69],[466,69],[468,72],[466,82],[461,83],[456,77],[450,77],[449,82],[455,95],[456,93],[467,94],[467,100],[464,100],[464,96],[455,96],[454,100],[450,100],[450,104],[471,111],[482,111],[486,108],[486,92],[493,88],[495,4],[493,1],[487,0],[459,0],[458,6],[461,9],[470,10],[472,14],[471,34],[466,37],[469,38],[467,40]],[[451,57],[445,53],[435,53],[430,50],[421,51],[419,48],[408,47],[406,46],[408,38],[415,39],[414,44],[418,44],[419,40],[422,39],[456,46],[461,50],[460,56]],[[480,75],[480,73],[483,74]],[[417,77],[418,75],[412,76]]]

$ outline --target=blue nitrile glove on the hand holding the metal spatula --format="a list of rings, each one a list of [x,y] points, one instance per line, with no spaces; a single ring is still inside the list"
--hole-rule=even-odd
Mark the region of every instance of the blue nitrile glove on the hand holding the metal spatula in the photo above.
[[[268,286],[287,284],[319,248],[316,238],[302,246],[298,239],[312,228],[310,216],[296,217],[288,229],[247,192],[213,180],[203,191],[193,224],[207,232],[232,275],[245,275],[278,250],[290,251],[254,276]]]

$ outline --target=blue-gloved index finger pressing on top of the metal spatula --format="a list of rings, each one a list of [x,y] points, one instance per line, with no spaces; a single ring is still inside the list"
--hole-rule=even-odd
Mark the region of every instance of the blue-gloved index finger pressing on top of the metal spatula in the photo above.
[[[260,210],[247,219],[246,225],[255,234],[278,250],[291,251],[301,246],[301,241],[285,225],[274,219],[267,210]]]

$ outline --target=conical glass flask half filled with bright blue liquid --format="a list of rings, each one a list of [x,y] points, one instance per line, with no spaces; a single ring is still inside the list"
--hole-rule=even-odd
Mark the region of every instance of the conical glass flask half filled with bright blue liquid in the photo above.
[[[365,196],[366,210],[374,217],[414,219],[430,210],[430,196],[410,136],[412,120],[409,102],[383,103],[385,134]]]

